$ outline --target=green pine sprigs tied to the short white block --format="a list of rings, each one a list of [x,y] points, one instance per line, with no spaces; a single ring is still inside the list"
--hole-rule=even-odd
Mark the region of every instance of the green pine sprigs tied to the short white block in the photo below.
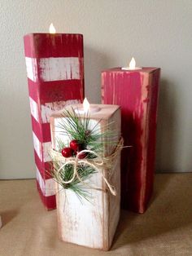
[[[98,121],[94,127],[90,128],[90,117],[89,113],[85,114],[84,117],[79,117],[75,110],[72,108],[71,111],[65,110],[63,112],[63,118],[61,118],[59,125],[59,133],[67,135],[69,139],[75,139],[82,145],[83,149],[89,149],[100,155],[103,155],[103,148],[105,143],[116,143],[114,138],[116,137],[116,132],[109,129],[110,124],[103,127],[103,132],[101,132],[101,123],[102,119]],[[62,151],[65,145],[62,139],[57,139],[58,150]],[[86,158],[94,158],[92,154],[88,154]],[[64,189],[71,189],[76,193],[76,196],[81,200],[85,198],[89,201],[89,186],[85,186],[85,183],[89,184],[89,179],[97,171],[93,167],[90,167],[85,164],[78,164],[76,170],[79,177],[85,181],[81,183],[77,177],[72,180],[71,183],[63,183],[72,179],[74,173],[74,166],[68,164],[60,169],[60,163],[55,161],[54,169],[52,170],[52,176],[56,182],[58,182]],[[58,173],[59,170],[59,173]],[[59,177],[58,177],[59,175]],[[63,182],[62,182],[63,181]]]

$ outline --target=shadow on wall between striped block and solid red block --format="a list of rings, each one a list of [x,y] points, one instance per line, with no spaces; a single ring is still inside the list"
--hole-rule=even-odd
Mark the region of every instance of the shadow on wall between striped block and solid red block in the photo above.
[[[85,96],[90,103],[101,103],[101,72],[114,66],[115,60],[103,51],[85,45]]]

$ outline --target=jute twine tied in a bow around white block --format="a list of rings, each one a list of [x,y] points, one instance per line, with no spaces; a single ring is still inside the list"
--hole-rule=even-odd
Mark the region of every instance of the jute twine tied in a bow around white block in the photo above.
[[[76,157],[65,158],[65,157],[63,157],[63,155],[60,152],[57,152],[54,149],[51,149],[50,155],[51,155],[53,161],[59,162],[61,165],[59,167],[59,170],[57,170],[57,172],[55,173],[56,180],[60,184],[65,185],[65,184],[72,183],[72,181],[74,179],[78,179],[81,183],[84,183],[89,188],[93,188],[88,183],[85,183],[78,174],[78,166],[79,165],[90,166],[90,167],[94,168],[94,170],[98,171],[99,174],[102,175],[104,182],[107,184],[107,188],[109,188],[109,190],[113,196],[116,196],[116,188],[108,182],[107,178],[103,174],[103,170],[111,170],[115,166],[116,157],[118,157],[118,155],[120,154],[120,151],[123,148],[123,144],[124,144],[124,140],[123,140],[123,138],[120,138],[120,141],[117,144],[115,150],[111,153],[111,156],[109,156],[109,157],[101,157],[101,156],[99,156],[99,154],[97,152],[85,149],[85,150],[81,150],[81,152],[78,152],[76,154]],[[90,153],[94,156],[94,158],[89,159],[89,158],[85,157],[84,159],[80,159],[79,155],[81,155],[82,153]],[[62,175],[60,174],[60,172],[64,169],[65,166],[67,166],[69,164],[73,166],[72,179],[70,179],[68,181],[64,181],[62,179]],[[99,188],[94,188],[94,189],[101,190]]]

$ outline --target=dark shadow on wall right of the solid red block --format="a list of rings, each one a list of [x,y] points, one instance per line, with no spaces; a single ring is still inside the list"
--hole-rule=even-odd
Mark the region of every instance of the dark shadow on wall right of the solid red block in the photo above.
[[[177,128],[177,90],[166,79],[161,79],[159,87],[159,108],[156,139],[156,170],[174,172],[176,161],[175,129]]]

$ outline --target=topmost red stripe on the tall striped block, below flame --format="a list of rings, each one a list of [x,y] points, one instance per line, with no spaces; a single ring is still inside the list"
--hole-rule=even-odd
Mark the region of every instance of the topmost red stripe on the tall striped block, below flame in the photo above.
[[[25,56],[33,58],[83,57],[83,35],[31,33],[24,36]]]

